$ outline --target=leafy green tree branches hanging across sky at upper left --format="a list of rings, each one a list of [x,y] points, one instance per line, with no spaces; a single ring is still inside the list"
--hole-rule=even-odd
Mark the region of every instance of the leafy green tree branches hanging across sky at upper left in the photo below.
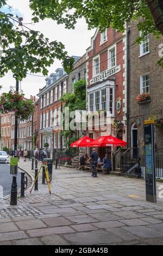
[[[1,1],[5,4],[7,1]],[[12,9],[11,9],[12,11]],[[39,21],[36,17],[34,22]],[[65,71],[70,72],[74,59],[67,56],[61,42],[49,41],[43,34],[23,25],[23,18],[0,11],[0,44],[3,54],[0,56],[0,77],[10,70],[18,81],[27,76],[27,72],[42,72],[48,75],[48,67],[57,58],[63,61]],[[21,47],[20,47],[21,45]]]

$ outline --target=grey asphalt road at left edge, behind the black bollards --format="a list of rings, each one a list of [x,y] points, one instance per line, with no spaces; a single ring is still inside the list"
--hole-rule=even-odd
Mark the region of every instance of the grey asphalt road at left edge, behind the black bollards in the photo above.
[[[8,196],[11,191],[12,175],[10,175],[10,164],[0,163],[0,199]],[[21,186],[21,174],[17,174],[17,189]],[[2,195],[3,191],[3,195]]]

